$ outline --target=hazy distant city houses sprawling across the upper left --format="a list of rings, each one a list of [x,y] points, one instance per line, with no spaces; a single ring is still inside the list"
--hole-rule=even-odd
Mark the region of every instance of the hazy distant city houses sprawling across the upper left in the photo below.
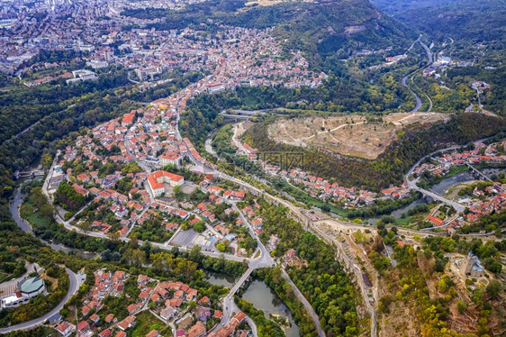
[[[158,1],[145,2],[153,5],[151,3]],[[176,4],[192,2],[194,1]],[[26,29],[28,23],[25,21],[30,14],[26,11],[35,14],[37,9],[20,8],[21,20],[14,20],[14,26],[2,31],[8,34],[5,35],[5,40],[0,41],[0,46],[3,47],[0,55],[4,56],[0,70],[14,74],[16,71],[21,73],[39,68],[55,68],[63,65],[63,62],[57,62],[56,65],[49,62],[36,63],[29,68],[18,69],[23,61],[32,59],[40,50],[76,50],[87,53],[81,59],[90,68],[122,65],[133,70],[140,81],[154,81],[161,74],[176,68],[206,72],[223,68],[225,71],[220,77],[203,83],[202,89],[210,93],[238,86],[316,87],[326,77],[323,73],[314,74],[302,53],[291,52],[290,57],[286,57],[285,50],[272,36],[272,29],[220,26],[220,32],[216,34],[191,28],[157,31],[147,26],[160,23],[159,18],[140,19],[121,14],[125,7],[131,5],[128,1],[113,2],[105,7],[95,1],[73,6],[61,4],[54,10],[60,12],[61,17],[66,17],[65,20],[60,20],[59,15],[51,16],[42,22],[30,23],[32,28],[29,30]],[[129,24],[138,28],[122,29]],[[117,49],[112,46],[115,43],[118,43]],[[80,80],[80,76],[69,80]],[[49,81],[50,78],[46,76],[27,82],[27,85],[40,85]],[[153,83],[147,82],[141,87],[152,85]]]

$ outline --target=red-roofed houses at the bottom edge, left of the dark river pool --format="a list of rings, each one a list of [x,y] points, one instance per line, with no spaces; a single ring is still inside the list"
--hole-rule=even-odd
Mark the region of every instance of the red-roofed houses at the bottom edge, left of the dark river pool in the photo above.
[[[230,336],[235,332],[239,323],[246,319],[246,314],[239,312],[230,320],[230,323],[221,326],[216,332],[210,332],[206,328],[206,322],[210,319],[214,323],[220,322],[223,313],[219,309],[212,309],[212,303],[207,296],[198,296],[198,291],[183,282],[160,282],[146,275],[138,275],[136,284],[139,295],[130,305],[126,305],[128,312],[126,317],[114,317],[106,314],[100,328],[95,325],[100,321],[97,314],[104,310],[103,301],[106,296],[122,296],[125,281],[131,276],[121,270],[110,273],[105,269],[95,272],[95,286],[83,301],[81,309],[81,321],[77,326],[61,322],[61,316],[55,318],[53,325],[67,337],[76,332],[79,337],[98,335],[100,337],[125,337],[129,329],[138,323],[138,314],[149,311],[162,323],[174,323],[176,336],[200,337],[204,335]],[[129,294],[125,294],[131,298]],[[200,298],[199,298],[200,297]],[[196,302],[194,309],[185,305]],[[153,303],[154,305],[150,305]],[[90,314],[93,312],[93,314]],[[246,336],[247,332],[240,332]],[[244,334],[242,334],[244,333]],[[158,336],[157,330],[151,330],[146,336]]]

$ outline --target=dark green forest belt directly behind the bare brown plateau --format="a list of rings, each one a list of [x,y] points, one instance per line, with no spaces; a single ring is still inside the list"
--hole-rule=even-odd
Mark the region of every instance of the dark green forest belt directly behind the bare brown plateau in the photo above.
[[[320,87],[297,89],[286,87],[238,87],[217,95],[201,95],[188,103],[179,125],[199,149],[205,138],[223,123],[222,109],[288,109],[318,110],[331,113],[368,113],[402,111],[411,95],[400,83],[385,74],[382,83],[366,87],[353,77],[331,76]],[[407,110],[407,109],[405,109]]]

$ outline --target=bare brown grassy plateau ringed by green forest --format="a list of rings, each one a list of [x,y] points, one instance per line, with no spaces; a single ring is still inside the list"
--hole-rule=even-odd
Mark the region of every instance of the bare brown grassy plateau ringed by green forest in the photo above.
[[[438,113],[388,114],[383,116],[383,122],[367,122],[366,116],[361,115],[280,119],[270,126],[269,137],[304,148],[375,159],[407,125],[444,119],[447,115]]]

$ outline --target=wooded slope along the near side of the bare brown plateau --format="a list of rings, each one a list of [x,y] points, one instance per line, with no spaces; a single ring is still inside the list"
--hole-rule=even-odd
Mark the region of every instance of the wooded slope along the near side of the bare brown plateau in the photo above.
[[[503,118],[483,114],[456,114],[447,123],[434,123],[429,128],[413,127],[399,134],[376,160],[330,157],[319,150],[303,148],[272,141],[267,125],[258,123],[245,133],[244,139],[262,151],[303,152],[304,169],[314,176],[328,178],[346,187],[366,187],[378,190],[399,185],[403,175],[421,157],[442,149],[448,144],[466,144],[469,141],[491,136],[506,129]]]

